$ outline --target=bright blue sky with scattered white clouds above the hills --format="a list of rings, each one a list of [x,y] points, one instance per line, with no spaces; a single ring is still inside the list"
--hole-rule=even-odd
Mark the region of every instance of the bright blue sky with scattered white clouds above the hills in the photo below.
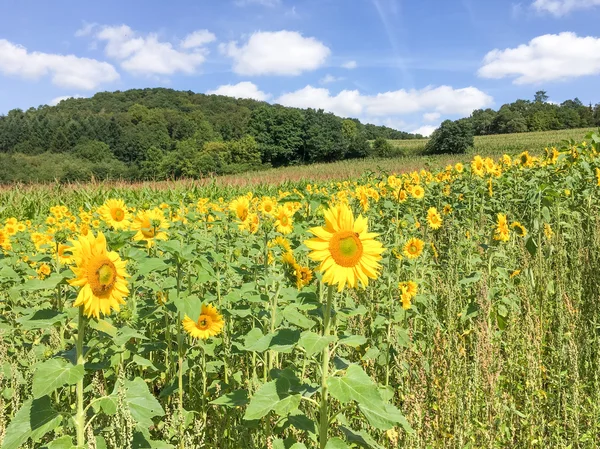
[[[600,0],[4,0],[0,113],[141,87],[431,132],[546,90],[600,102]]]

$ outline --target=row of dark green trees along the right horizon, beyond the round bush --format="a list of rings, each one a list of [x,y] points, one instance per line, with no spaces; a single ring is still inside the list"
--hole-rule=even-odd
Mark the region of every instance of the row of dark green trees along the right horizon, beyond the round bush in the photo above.
[[[538,91],[533,101],[517,100],[498,111],[477,109],[458,121],[468,123],[476,136],[587,128],[600,126],[600,103],[584,105],[578,98],[549,103],[546,92]]]

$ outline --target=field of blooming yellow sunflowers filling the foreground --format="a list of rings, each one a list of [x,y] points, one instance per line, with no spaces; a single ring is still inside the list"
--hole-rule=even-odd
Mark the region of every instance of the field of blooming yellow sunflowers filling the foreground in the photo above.
[[[0,192],[0,447],[598,448],[599,152]]]

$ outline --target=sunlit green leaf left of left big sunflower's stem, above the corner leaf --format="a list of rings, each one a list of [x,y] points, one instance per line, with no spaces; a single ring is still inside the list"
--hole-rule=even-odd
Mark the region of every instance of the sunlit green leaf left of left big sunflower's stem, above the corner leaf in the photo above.
[[[75,385],[83,375],[83,365],[73,365],[64,359],[47,360],[37,366],[33,375],[33,397],[38,399],[63,385]]]

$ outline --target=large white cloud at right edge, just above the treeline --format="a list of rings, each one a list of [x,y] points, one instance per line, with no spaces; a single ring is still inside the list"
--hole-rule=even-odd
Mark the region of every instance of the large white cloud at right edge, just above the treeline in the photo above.
[[[545,34],[528,44],[490,51],[478,75],[483,78],[516,76],[514,84],[560,81],[600,74],[600,38],[575,33]]]

